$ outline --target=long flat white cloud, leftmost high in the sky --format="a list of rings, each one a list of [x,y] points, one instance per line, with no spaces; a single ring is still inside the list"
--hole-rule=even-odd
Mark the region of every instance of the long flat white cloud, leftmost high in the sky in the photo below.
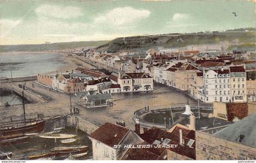
[[[69,19],[69,18],[77,18],[79,16],[82,16],[82,9],[79,7],[60,7],[58,5],[40,5],[37,9],[35,9],[35,12],[38,16],[46,16],[46,17],[54,17],[54,18],[63,18],[63,19]]]

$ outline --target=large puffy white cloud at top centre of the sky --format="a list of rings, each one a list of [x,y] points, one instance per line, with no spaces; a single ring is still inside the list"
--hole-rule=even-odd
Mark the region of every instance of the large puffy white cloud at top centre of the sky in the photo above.
[[[94,19],[95,23],[108,23],[115,26],[133,23],[143,18],[148,18],[151,12],[149,10],[137,10],[132,7],[118,7],[110,10],[105,15]]]

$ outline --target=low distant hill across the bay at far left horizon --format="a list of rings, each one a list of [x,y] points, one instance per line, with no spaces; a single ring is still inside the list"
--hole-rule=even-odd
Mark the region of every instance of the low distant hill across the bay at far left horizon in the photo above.
[[[109,41],[80,41],[80,42],[66,42],[66,43],[49,43],[49,44],[21,44],[21,45],[1,45],[0,52],[37,52],[44,50],[64,50],[76,49],[85,47],[98,47],[102,44],[107,44]]]

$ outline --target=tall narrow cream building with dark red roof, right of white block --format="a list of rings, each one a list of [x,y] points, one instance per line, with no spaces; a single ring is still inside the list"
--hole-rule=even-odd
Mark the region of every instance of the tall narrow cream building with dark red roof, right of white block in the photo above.
[[[230,93],[232,102],[247,102],[246,72],[243,66],[230,66]]]

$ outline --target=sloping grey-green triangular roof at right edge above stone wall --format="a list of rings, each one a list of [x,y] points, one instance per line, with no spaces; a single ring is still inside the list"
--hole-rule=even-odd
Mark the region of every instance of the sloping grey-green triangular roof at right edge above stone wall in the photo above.
[[[219,130],[213,136],[256,148],[256,112]]]

